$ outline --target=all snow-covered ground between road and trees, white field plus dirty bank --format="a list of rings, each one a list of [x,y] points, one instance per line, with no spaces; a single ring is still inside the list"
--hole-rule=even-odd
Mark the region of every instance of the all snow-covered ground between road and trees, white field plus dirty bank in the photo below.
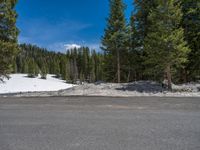
[[[53,75],[48,75],[47,80],[43,80],[40,77],[28,78],[25,74],[13,74],[10,80],[0,83],[0,94],[9,93],[18,93],[14,96],[200,97],[200,83],[173,85],[173,92],[168,92],[163,90],[161,84],[153,81],[120,84],[97,82],[74,86]]]

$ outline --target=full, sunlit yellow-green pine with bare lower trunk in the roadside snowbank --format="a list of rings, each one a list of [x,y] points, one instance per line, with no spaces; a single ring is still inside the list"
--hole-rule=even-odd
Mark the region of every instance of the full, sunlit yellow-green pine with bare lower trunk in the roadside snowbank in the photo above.
[[[158,0],[159,5],[150,13],[149,33],[145,38],[145,63],[166,73],[168,89],[172,89],[171,70],[187,61],[189,48],[180,27],[182,11],[176,0]]]

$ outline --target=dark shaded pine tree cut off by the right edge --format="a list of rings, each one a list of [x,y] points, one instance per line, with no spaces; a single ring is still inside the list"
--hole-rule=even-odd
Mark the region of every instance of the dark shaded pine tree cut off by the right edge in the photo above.
[[[197,80],[200,79],[200,1],[181,0],[181,3],[182,27],[185,39],[191,49],[189,61],[183,68],[186,75],[184,80],[187,80],[187,75],[189,75],[189,80]]]

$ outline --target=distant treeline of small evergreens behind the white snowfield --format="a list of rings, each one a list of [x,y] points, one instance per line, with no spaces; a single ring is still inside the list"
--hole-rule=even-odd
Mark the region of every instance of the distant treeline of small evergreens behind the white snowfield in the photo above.
[[[103,80],[101,53],[88,47],[68,50],[66,54],[51,52],[35,45],[20,45],[20,53],[14,62],[15,73],[28,73],[29,77],[46,78],[55,74],[68,82]]]

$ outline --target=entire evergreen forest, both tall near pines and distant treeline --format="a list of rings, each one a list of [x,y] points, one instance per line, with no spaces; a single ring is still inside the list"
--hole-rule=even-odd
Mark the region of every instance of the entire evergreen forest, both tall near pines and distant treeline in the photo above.
[[[123,0],[109,0],[102,51],[65,53],[18,44],[16,0],[0,2],[0,76],[55,74],[70,83],[200,80],[200,1],[134,0],[129,19]]]

